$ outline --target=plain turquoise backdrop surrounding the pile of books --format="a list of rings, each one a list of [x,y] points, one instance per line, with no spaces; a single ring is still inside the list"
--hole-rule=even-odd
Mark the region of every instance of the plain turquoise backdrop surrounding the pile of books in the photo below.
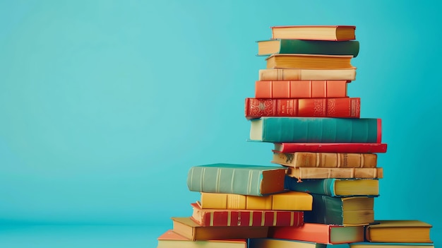
[[[271,165],[273,144],[246,142],[244,98],[265,68],[256,40],[273,25],[357,26],[349,95],[361,117],[383,120],[388,143],[375,217],[431,223],[441,245],[440,11],[440,1],[0,1],[0,246],[88,247],[67,231],[54,243],[54,225],[136,225],[150,229],[132,246],[155,247],[198,200],[191,166]],[[29,225],[52,235],[29,236]]]

